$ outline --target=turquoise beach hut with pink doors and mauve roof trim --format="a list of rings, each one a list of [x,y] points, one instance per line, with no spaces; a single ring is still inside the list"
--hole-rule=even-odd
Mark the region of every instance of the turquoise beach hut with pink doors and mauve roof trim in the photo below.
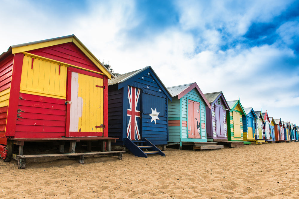
[[[167,88],[173,96],[168,102],[169,143],[191,145],[193,149],[217,149],[223,146],[207,140],[206,110],[211,105],[195,83]],[[207,107],[207,108],[206,108]]]

